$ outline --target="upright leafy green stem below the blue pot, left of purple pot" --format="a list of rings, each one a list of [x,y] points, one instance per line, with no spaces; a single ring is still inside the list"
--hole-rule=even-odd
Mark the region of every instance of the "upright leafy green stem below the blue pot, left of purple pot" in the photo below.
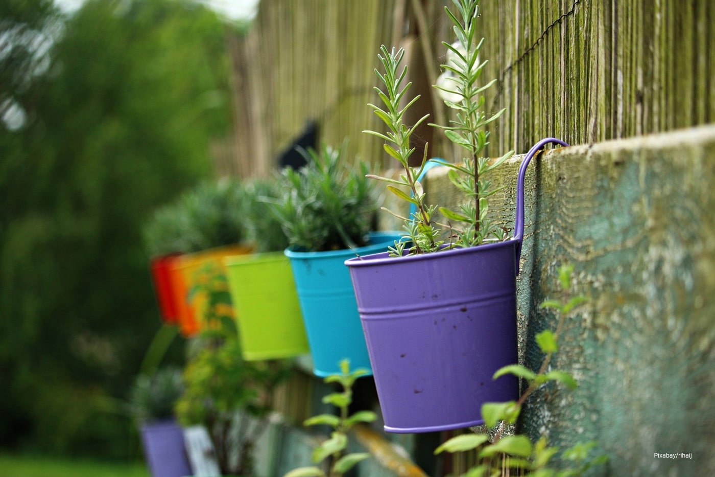
[[[365,370],[355,370],[350,372],[350,362],[342,360],[340,362],[340,375],[331,375],[325,378],[325,382],[337,382],[342,387],[341,392],[332,392],[322,398],[322,402],[334,405],[338,415],[321,414],[305,420],[305,425],[328,425],[333,431],[330,438],[318,445],[313,451],[312,460],[315,463],[329,460],[329,471],[326,474],[322,468],[317,466],[297,468],[285,474],[285,477],[340,477],[349,471],[360,461],[370,457],[369,453],[345,454],[347,448],[347,432],[353,425],[358,423],[371,423],[377,418],[375,413],[368,410],[361,410],[352,415],[348,415],[347,408],[352,403],[352,385],[358,377],[367,374]]]

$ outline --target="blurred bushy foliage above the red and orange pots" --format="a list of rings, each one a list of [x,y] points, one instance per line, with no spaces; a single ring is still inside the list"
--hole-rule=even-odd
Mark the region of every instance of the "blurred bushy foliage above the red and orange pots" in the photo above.
[[[204,182],[154,212],[144,226],[150,256],[187,254],[245,240],[246,192],[240,180]]]

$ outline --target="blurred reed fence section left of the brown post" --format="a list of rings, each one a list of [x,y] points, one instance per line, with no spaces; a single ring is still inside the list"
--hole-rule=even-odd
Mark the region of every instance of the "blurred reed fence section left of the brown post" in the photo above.
[[[236,173],[265,175],[311,122],[327,143],[340,145],[347,137],[352,151],[376,150],[360,130],[373,121],[366,103],[373,100],[378,47],[392,34],[393,3],[260,4],[247,37],[229,39]]]

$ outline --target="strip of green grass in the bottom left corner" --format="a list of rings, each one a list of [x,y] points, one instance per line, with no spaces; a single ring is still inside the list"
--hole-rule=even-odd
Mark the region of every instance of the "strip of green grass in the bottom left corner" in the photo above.
[[[107,463],[0,454],[0,477],[149,477],[143,462]]]

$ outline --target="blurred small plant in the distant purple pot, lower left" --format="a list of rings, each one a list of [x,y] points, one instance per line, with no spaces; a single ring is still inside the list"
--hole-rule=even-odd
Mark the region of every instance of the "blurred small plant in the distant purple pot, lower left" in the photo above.
[[[154,375],[139,375],[129,394],[129,412],[137,423],[171,418],[183,388],[178,367],[160,368]]]

